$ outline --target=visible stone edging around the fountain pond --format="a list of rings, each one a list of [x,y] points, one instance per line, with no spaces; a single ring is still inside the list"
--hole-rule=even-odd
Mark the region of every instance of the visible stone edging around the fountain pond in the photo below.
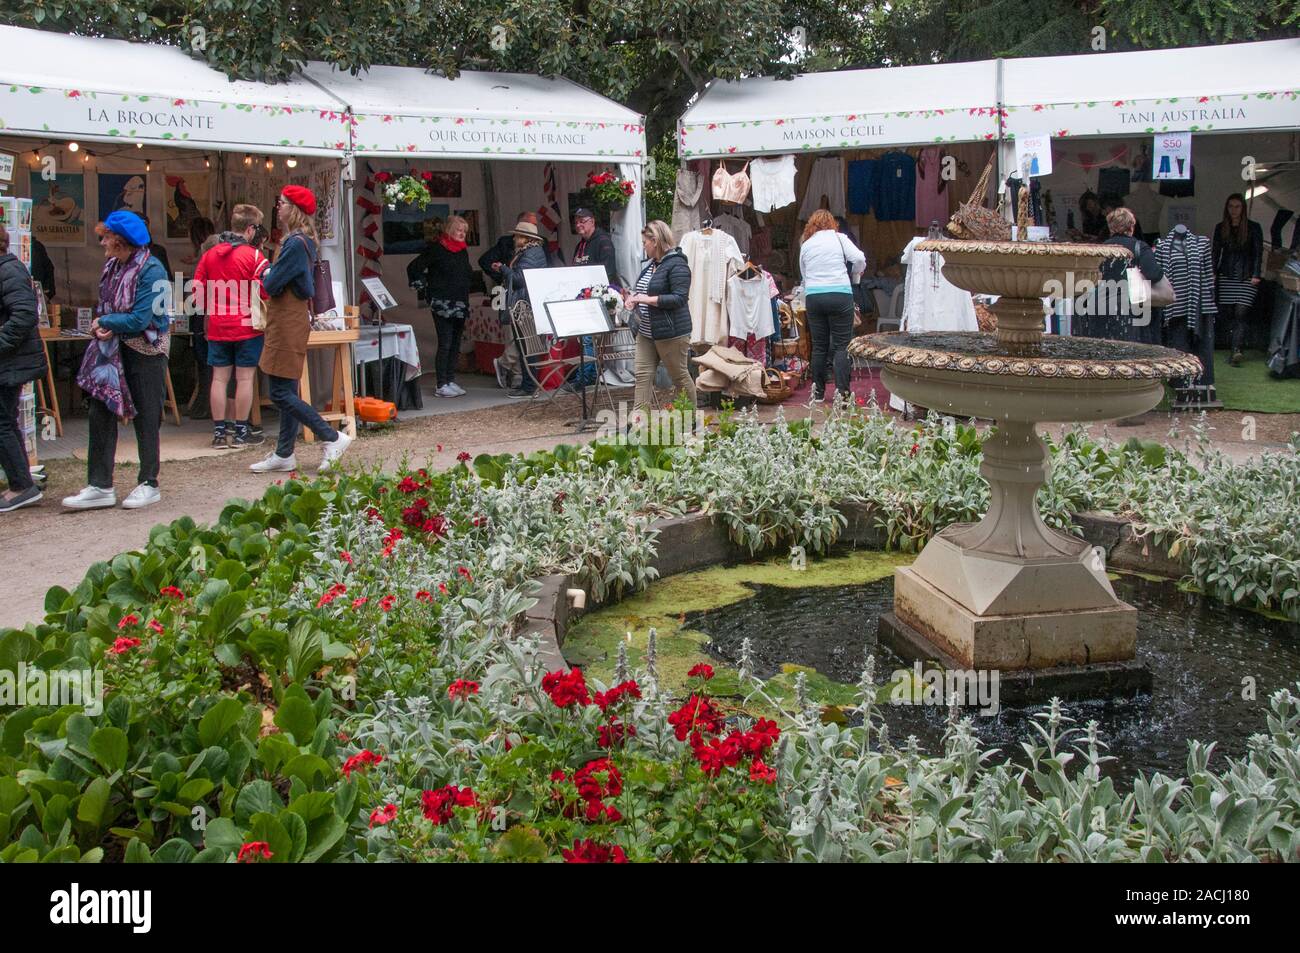
[[[838,510],[846,524],[832,551],[884,549],[885,533],[876,523],[875,507],[868,503],[841,503]],[[1122,516],[1080,512],[1074,515],[1074,523],[1083,530],[1087,542],[1106,551],[1108,568],[1169,579],[1180,579],[1186,575],[1179,562],[1169,558],[1164,546],[1154,545],[1149,538],[1141,538],[1132,523]],[[659,538],[658,553],[650,564],[658,569],[660,579],[714,566],[750,562],[776,551],[768,549],[750,554],[748,549],[732,541],[720,520],[701,512],[655,520],[651,529],[659,532]],[[541,584],[537,605],[524,612],[524,623],[519,632],[537,636],[540,660],[546,666],[546,671],[552,672],[567,667],[560,646],[564,644],[569,623],[586,611],[599,608],[601,605],[593,601],[584,610],[569,606],[568,590],[580,586],[568,573],[541,576],[537,582]]]

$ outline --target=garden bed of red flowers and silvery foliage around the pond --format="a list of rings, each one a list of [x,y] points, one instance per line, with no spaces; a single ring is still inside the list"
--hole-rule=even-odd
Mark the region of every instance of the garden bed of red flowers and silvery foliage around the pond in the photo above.
[[[1232,467],[1075,433],[1053,459],[1040,501],[1054,525],[1123,515],[1188,585],[1300,618],[1296,452]],[[849,728],[823,724],[798,681],[774,698],[744,664],[738,703],[707,666],[670,697],[653,651],[599,684],[519,634],[540,576],[598,602],[654,579],[656,519],[699,511],[749,553],[815,554],[850,501],[911,551],[983,511],[978,464],[961,425],[845,412],[814,434],[724,415],[684,447],[295,480],[212,527],[157,527],[52,589],[43,623],[0,634],[0,671],[104,680],[101,706],[0,707],[0,859],[1294,857],[1288,692],[1261,706],[1244,759],[1212,768],[1212,746],[1191,742],[1186,777],[1121,794],[1096,725],[1058,706],[1017,770],[985,764],[957,711],[941,751],[881,737],[870,663]]]

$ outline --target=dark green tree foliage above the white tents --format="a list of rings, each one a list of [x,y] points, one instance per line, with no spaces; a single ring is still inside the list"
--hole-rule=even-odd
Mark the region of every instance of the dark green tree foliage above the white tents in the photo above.
[[[173,43],[230,77],[307,60],[563,75],[650,135],[711,78],[1295,35],[1300,0],[10,0],[0,20]]]

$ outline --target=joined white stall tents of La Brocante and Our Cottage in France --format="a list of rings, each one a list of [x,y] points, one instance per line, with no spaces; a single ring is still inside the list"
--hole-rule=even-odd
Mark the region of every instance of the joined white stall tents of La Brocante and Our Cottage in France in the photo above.
[[[638,264],[642,118],[567,81],[495,73],[448,81],[387,66],[351,77],[311,64],[287,83],[231,83],[174,48],[0,31],[6,49],[21,51],[0,66],[0,150],[16,159],[9,194],[34,199],[35,250],[52,263],[51,300],[61,307],[51,313],[62,329],[51,328],[47,337],[57,342],[51,347],[60,367],[75,361],[75,354],[58,359],[57,352],[84,339],[75,335],[75,321],[94,300],[92,226],[117,207],[150,217],[156,251],[172,272],[190,277],[192,220],[211,218],[220,230],[235,204],[251,203],[268,212],[273,229],[278,190],[311,187],[338,309],[364,312],[361,326],[350,329],[356,339],[348,350],[359,368],[376,373],[360,374],[360,393],[415,412],[422,391],[434,389],[438,333],[406,267],[452,216],[464,222],[464,250],[476,270],[502,237],[510,241],[521,213],[538,222],[552,259],[572,260],[580,205],[595,207],[598,225],[611,234],[619,277]],[[386,182],[406,174],[422,183],[424,202],[385,194]],[[627,182],[636,199],[599,202],[589,183],[602,174]],[[12,213],[17,218],[17,204]],[[494,283],[474,276],[465,330],[451,355],[480,374],[491,374],[507,350],[508,329],[489,294]],[[332,347],[337,343],[332,338]],[[338,361],[320,354],[309,364],[313,391],[326,395],[316,402],[324,410]],[[188,367],[179,356],[172,361],[182,404],[195,390]],[[70,407],[73,372],[62,367],[56,386],[47,387],[47,410]],[[474,380],[464,404],[498,399],[486,397],[491,378]],[[52,416],[61,432],[64,415]],[[47,449],[61,451],[58,443]]]

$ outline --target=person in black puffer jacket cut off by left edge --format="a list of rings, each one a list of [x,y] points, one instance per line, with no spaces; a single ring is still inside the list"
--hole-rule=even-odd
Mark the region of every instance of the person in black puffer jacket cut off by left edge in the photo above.
[[[0,228],[0,469],[9,481],[8,491],[0,495],[0,512],[40,502],[18,429],[18,398],[25,384],[44,373],[36,291],[26,267],[9,254],[9,233]]]

